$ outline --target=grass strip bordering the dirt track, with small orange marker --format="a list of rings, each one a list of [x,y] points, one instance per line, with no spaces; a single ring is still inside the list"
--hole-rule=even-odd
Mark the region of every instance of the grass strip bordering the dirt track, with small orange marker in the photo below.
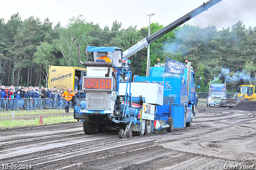
[[[3,120],[0,121],[0,128],[12,128],[21,126],[38,126],[40,118],[29,119],[29,120]],[[43,124],[58,124],[61,122],[76,122],[72,115],[70,116],[48,116],[46,118],[42,117]]]

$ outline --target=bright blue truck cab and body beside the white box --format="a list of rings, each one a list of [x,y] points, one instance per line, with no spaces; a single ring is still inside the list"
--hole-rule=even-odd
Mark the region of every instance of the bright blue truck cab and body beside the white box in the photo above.
[[[155,120],[171,121],[173,128],[191,126],[195,116],[196,76],[189,64],[184,66],[182,75],[165,73],[165,64],[155,64],[150,67],[148,77],[134,76],[134,82],[159,83],[164,86],[163,105],[156,106]]]

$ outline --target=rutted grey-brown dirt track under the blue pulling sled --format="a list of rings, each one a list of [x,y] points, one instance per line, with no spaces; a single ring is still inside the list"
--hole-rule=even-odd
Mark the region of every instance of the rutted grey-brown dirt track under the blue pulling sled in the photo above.
[[[256,169],[255,139],[256,112],[207,107],[197,108],[192,127],[130,139],[118,133],[85,135],[80,122],[0,129],[0,168]]]

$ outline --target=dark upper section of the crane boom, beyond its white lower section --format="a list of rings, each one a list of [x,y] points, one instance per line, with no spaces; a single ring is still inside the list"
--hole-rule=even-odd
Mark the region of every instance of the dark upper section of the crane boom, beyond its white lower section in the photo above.
[[[188,20],[194,18],[195,16],[197,16],[198,14],[201,14],[202,12],[204,12],[205,10],[208,10],[210,7],[214,6],[215,4],[217,4],[218,2],[220,2],[222,0],[210,0],[204,4],[202,4],[201,6],[199,6],[198,8],[192,10],[191,12],[189,12],[188,14],[182,16],[181,18],[179,18],[178,20],[172,22],[171,24],[169,24],[168,26],[165,26],[164,28],[162,28],[161,30],[158,30],[157,32],[155,32],[154,34],[148,36],[147,40],[148,43],[152,43],[154,40],[160,38],[161,36],[163,36],[164,34],[167,34],[168,32],[170,32],[171,30],[174,30],[175,28],[177,28],[178,26],[180,26],[181,24],[184,24],[185,22],[187,22]]]

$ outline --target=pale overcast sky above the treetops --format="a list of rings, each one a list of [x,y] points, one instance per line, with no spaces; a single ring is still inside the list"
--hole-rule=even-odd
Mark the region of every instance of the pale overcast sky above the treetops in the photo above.
[[[1,0],[0,18],[5,23],[12,14],[19,12],[21,19],[30,16],[40,18],[43,22],[49,18],[53,25],[58,22],[66,26],[69,18],[82,14],[86,21],[106,25],[111,29],[112,23],[122,22],[122,28],[137,26],[138,29],[158,22],[167,26],[208,0]],[[205,28],[216,26],[217,30],[244,22],[246,28],[256,26],[256,0],[222,0],[204,11],[186,24]]]

